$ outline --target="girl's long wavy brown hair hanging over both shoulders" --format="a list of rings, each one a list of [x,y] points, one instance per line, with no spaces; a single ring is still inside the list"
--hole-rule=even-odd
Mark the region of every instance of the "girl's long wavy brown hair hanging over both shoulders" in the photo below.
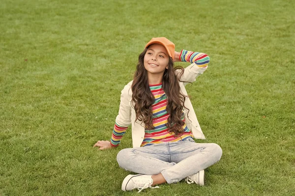
[[[148,86],[148,72],[145,69],[144,58],[147,52],[147,48],[138,57],[138,64],[134,74],[132,89],[132,105],[136,112],[136,119],[145,124],[145,128],[148,130],[154,129],[152,124],[152,104],[155,99]],[[175,70],[180,69],[179,74],[176,74]],[[183,115],[182,109],[184,107],[185,95],[180,91],[179,82],[180,77],[183,74],[183,67],[174,67],[172,58],[169,58],[168,69],[165,69],[162,81],[162,88],[167,96],[166,111],[170,114],[168,117],[168,123],[166,126],[169,128],[170,133],[174,133],[176,136],[182,135],[184,132],[184,122],[181,120]]]

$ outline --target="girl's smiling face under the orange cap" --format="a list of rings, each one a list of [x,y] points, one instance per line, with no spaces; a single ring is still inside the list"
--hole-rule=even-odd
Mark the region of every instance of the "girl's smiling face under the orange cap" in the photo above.
[[[144,65],[148,71],[148,77],[163,77],[165,69],[168,69],[169,55],[164,46],[152,44],[148,47],[144,58]]]

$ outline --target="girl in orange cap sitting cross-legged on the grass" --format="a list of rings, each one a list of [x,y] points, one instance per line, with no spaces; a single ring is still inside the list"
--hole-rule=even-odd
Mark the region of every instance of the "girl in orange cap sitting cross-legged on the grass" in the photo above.
[[[173,62],[191,62],[185,69]],[[121,168],[139,173],[128,175],[123,191],[176,183],[204,185],[204,169],[220,160],[222,150],[205,139],[185,85],[207,69],[204,53],[182,50],[165,37],[152,38],[140,54],[134,80],[121,91],[121,100],[111,141],[99,140],[99,149],[117,147],[132,124],[133,148],[119,151]]]

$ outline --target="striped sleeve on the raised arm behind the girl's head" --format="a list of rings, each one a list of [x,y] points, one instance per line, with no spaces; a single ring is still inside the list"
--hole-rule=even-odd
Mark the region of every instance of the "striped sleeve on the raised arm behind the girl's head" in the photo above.
[[[181,60],[182,62],[195,63],[198,67],[206,68],[210,61],[210,58],[205,53],[182,50],[179,56],[179,60]]]

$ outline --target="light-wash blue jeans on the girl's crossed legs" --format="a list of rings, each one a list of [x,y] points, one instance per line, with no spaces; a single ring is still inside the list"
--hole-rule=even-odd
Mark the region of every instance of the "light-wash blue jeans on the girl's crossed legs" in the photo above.
[[[161,173],[167,183],[175,183],[218,162],[222,150],[216,143],[166,142],[119,151],[121,168],[148,175]]]

